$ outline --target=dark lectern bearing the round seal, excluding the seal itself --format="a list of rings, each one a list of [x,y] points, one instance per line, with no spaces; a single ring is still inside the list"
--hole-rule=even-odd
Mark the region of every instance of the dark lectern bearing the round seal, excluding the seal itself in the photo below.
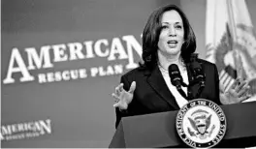
[[[227,119],[224,138],[214,147],[256,146],[256,102],[221,105]],[[110,148],[188,147],[176,133],[177,111],[124,117]]]

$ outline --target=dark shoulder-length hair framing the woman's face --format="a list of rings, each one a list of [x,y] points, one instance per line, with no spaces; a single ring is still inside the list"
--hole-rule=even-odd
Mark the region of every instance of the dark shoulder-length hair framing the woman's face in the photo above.
[[[186,15],[176,5],[167,5],[155,10],[147,19],[143,33],[143,60],[142,66],[151,69],[157,63],[158,40],[161,32],[161,18],[165,12],[176,11],[183,21],[184,44],[181,46],[181,58],[189,63],[190,57],[196,50],[196,37]]]

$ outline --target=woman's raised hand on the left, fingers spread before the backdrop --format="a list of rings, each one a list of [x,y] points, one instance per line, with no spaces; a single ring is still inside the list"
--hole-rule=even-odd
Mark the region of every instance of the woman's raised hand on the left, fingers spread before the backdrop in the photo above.
[[[128,104],[130,104],[133,100],[135,88],[136,88],[135,81],[132,82],[129,91],[125,91],[123,89],[123,83],[115,87],[114,93],[112,93],[112,97],[114,98],[114,102],[115,102],[115,104],[113,104],[113,107],[118,107],[120,110],[127,109]]]

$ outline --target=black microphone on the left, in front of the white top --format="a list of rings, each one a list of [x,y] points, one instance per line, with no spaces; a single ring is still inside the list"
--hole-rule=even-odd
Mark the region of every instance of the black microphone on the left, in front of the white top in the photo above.
[[[171,82],[174,86],[176,86],[176,90],[179,92],[179,94],[184,98],[187,99],[185,92],[182,90],[181,85],[186,85],[183,82],[183,78],[180,75],[180,72],[178,70],[178,67],[176,64],[172,64],[168,67],[168,72],[171,77]],[[187,86],[187,85],[186,85]]]

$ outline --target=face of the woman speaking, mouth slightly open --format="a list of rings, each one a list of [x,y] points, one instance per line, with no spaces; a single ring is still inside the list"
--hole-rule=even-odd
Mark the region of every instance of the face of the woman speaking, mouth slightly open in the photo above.
[[[179,56],[184,42],[184,28],[181,16],[176,11],[162,15],[162,30],[159,35],[158,52],[165,56]]]

